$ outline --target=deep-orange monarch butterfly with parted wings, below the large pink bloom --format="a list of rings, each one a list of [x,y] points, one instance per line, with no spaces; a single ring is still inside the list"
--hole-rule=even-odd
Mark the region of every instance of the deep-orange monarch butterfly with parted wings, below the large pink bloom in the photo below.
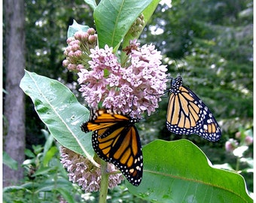
[[[134,186],[142,181],[142,144],[131,118],[110,109],[91,111],[90,120],[81,125],[83,132],[93,131],[93,149],[106,162],[113,163]]]

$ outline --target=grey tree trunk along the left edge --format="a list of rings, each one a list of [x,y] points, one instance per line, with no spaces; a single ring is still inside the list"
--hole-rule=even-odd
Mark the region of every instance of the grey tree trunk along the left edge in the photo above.
[[[25,95],[20,80],[25,69],[24,1],[6,0],[5,8],[5,95],[4,114],[7,132],[4,132],[4,150],[15,159],[17,171],[3,166],[3,185],[10,186],[23,179],[21,164],[25,159]]]

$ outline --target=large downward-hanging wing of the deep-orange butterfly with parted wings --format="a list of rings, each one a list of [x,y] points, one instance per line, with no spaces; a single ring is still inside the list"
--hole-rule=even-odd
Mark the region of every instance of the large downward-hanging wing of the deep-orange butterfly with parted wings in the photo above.
[[[117,123],[103,134],[96,130],[92,142],[100,158],[113,163],[130,183],[139,185],[143,173],[142,144],[133,124]]]

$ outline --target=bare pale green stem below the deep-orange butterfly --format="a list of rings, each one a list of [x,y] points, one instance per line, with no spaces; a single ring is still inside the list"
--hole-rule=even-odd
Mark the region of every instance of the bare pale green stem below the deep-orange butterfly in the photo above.
[[[102,180],[99,188],[99,203],[105,203],[108,195],[108,172],[107,162],[101,160]]]

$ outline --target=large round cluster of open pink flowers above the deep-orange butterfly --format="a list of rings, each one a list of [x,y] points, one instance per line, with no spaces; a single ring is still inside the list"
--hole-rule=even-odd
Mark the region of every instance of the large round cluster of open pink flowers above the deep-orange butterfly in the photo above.
[[[91,49],[90,68],[78,73],[79,91],[91,108],[101,104],[131,117],[141,117],[144,111],[150,115],[166,89],[166,65],[152,44],[139,47],[131,41],[125,50],[128,59],[121,67],[112,47]]]

